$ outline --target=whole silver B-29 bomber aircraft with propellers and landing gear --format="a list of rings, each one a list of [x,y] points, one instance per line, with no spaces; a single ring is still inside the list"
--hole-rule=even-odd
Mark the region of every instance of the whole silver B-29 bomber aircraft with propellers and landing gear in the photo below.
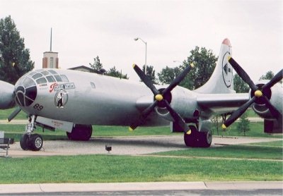
[[[65,130],[71,140],[89,140],[92,125],[125,125],[134,130],[139,125],[170,123],[171,131],[184,133],[187,147],[209,147],[209,119],[219,114],[224,117],[222,127],[227,128],[250,106],[265,119],[265,133],[282,133],[283,90],[277,82],[283,69],[272,80],[254,84],[232,59],[229,39],[221,44],[211,78],[197,90],[178,86],[193,64],[170,85],[154,85],[137,65],[133,68],[144,83],[81,71],[30,71],[16,85],[0,81],[0,109],[16,106],[8,121],[21,110],[28,114],[20,143],[22,149],[34,151],[43,144],[42,137],[33,133],[36,126]],[[233,90],[233,68],[250,86],[249,93]]]

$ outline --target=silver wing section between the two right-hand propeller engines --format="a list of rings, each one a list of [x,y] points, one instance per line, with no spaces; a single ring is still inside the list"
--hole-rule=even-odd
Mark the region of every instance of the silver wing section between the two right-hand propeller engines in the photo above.
[[[248,93],[198,94],[197,104],[202,112],[210,116],[211,114],[231,113],[248,102],[249,99]]]

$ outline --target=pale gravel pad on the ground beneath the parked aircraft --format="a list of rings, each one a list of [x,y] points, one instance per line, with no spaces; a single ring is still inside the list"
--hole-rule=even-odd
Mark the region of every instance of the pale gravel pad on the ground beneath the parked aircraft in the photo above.
[[[212,147],[221,145],[243,145],[256,142],[272,142],[281,138],[264,137],[214,137]],[[111,152],[105,150],[105,145],[112,147]],[[171,150],[187,149],[183,142],[183,135],[157,135],[134,137],[92,137],[87,142],[54,140],[43,141],[42,150],[39,152],[24,151],[20,142],[10,145],[8,155],[16,157],[38,157],[54,155],[78,154],[115,154],[115,155],[142,155]]]

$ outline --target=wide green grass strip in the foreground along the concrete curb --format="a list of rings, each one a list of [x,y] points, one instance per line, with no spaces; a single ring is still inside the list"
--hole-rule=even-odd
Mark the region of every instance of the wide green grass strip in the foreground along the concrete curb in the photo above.
[[[0,183],[283,180],[282,161],[80,155],[2,159]]]

